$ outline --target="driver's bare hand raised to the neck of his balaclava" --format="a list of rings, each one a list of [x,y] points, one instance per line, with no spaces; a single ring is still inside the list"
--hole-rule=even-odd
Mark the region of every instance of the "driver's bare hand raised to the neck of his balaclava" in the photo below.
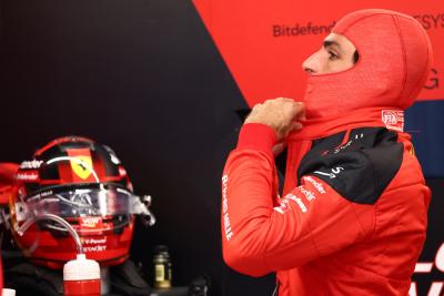
[[[274,130],[278,142],[280,142],[291,131],[302,129],[302,124],[297,122],[301,119],[305,119],[305,108],[303,103],[295,102],[292,99],[278,98],[254,105],[245,123],[262,123],[269,125]]]

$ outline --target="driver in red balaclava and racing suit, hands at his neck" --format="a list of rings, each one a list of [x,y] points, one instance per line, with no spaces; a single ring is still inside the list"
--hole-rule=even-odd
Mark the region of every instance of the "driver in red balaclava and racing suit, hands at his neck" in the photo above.
[[[303,63],[303,102],[253,108],[222,177],[229,266],[276,272],[280,296],[407,295],[431,194],[403,111],[431,60],[413,18],[356,11]],[[282,143],[281,198],[273,152]]]

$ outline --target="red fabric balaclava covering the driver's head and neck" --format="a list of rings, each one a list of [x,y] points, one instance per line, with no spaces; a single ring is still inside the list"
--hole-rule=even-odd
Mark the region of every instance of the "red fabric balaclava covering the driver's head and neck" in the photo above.
[[[384,110],[402,114],[413,104],[432,63],[428,37],[414,18],[366,9],[345,16],[332,31],[346,37],[360,59],[345,71],[309,76],[304,98],[309,122],[342,118],[346,124],[343,118],[354,113],[356,120],[369,114],[384,123],[390,121],[383,119]]]

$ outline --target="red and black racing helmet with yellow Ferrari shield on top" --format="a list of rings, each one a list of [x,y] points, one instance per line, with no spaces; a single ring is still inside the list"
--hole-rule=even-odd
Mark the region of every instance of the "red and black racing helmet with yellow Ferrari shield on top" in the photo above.
[[[36,216],[58,215],[79,234],[88,258],[120,264],[129,256],[135,198],[110,147],[85,137],[60,137],[21,163],[10,201],[12,233],[31,261],[61,268],[78,253],[64,226],[39,220],[22,235],[19,231]]]

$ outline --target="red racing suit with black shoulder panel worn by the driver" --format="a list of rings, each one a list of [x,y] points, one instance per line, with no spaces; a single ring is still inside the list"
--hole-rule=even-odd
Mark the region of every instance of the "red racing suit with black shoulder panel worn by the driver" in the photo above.
[[[360,118],[306,124],[287,139],[282,198],[274,131],[242,127],[222,177],[229,266],[276,272],[280,296],[407,295],[431,193],[410,135]]]

